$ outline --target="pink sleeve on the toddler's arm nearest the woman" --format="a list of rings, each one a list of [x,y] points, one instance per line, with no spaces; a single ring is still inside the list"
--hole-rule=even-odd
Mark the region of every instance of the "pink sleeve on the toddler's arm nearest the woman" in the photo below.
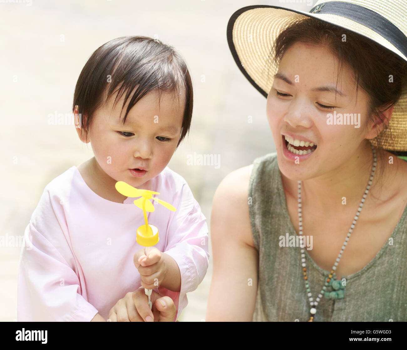
[[[186,293],[197,289],[206,275],[209,264],[208,225],[186,183],[182,188],[177,212],[169,226],[168,243],[164,253],[177,262],[181,273],[181,289],[174,292],[158,287],[160,295],[168,295],[174,300],[177,307],[174,321],[188,304]]]

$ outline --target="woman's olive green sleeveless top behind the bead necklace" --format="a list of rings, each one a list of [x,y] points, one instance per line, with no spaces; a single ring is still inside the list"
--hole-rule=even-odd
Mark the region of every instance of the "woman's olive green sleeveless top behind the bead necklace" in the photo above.
[[[249,213],[259,259],[253,321],[307,321],[311,306],[300,247],[279,245],[280,236],[287,236],[287,233],[295,236],[296,232],[288,214],[276,153],[253,162]],[[344,276],[343,299],[322,296],[314,321],[407,321],[407,207],[391,238],[368,265]],[[315,300],[329,272],[315,264],[306,248],[305,258]],[[331,287],[327,288],[327,291],[331,290]]]

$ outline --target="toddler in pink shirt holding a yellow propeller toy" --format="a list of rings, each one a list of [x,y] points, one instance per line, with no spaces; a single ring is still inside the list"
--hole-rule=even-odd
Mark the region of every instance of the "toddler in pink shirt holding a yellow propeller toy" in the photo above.
[[[140,286],[171,297],[177,319],[209,261],[206,218],[184,178],[167,166],[189,131],[192,109],[188,68],[172,47],[126,36],[92,54],[72,110],[94,157],[53,179],[31,216],[20,256],[18,321],[107,319]],[[147,213],[159,234],[148,258],[136,242],[144,224],[133,203],[138,198],[121,195],[118,181],[159,192],[154,196],[176,208],[158,204]]]

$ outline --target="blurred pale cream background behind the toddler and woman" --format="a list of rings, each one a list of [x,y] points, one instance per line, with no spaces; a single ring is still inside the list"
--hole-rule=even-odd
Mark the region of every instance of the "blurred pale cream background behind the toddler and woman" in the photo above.
[[[254,4],[311,9],[306,1],[278,0],[1,3],[0,235],[23,236],[46,184],[93,157],[74,125],[48,125],[48,114],[72,113],[83,65],[96,48],[123,35],[160,39],[174,46],[188,64],[194,86],[192,127],[168,166],[186,179],[210,227],[213,195],[223,177],[275,151],[266,99],[239,71],[226,40],[232,13]],[[220,167],[187,165],[194,152],[220,155]],[[20,249],[0,246],[0,321],[15,321]],[[187,294],[180,321],[205,318],[211,247],[209,252],[206,277]]]

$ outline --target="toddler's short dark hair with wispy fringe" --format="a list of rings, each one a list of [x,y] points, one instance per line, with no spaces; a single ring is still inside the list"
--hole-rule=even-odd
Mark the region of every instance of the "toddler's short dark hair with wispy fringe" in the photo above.
[[[83,67],[75,86],[72,111],[78,106],[85,135],[89,133],[93,113],[103,103],[107,105],[116,89],[118,93],[114,105],[126,92],[123,102],[125,106],[136,87],[123,124],[130,109],[149,92],[157,91],[159,95],[160,92],[172,92],[173,99],[179,102],[185,89],[184,117],[178,147],[191,125],[191,77],[184,59],[172,46],[143,36],[118,37],[103,44],[94,51]]]

